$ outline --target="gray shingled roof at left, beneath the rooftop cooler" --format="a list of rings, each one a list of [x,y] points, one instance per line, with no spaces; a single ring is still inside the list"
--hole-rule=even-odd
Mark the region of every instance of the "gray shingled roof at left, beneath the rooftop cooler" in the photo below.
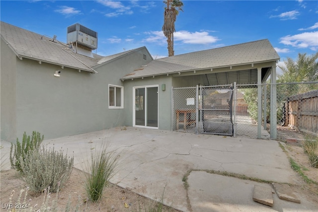
[[[52,41],[45,35],[40,35],[17,26],[1,21],[1,39],[12,49],[15,55],[20,58],[28,58],[63,67],[69,67],[81,71],[95,73],[94,69],[117,58],[123,57],[138,49],[125,51],[110,56],[100,56],[93,54],[94,58],[73,52],[65,43]]]

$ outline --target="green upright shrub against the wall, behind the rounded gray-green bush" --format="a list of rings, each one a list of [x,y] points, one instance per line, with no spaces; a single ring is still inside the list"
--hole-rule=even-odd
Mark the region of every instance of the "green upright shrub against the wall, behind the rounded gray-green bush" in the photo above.
[[[33,131],[32,137],[26,136],[24,132],[22,143],[19,139],[16,139],[16,144],[11,143],[10,147],[10,163],[11,168],[22,172],[20,159],[24,161],[26,155],[31,152],[32,150],[38,150],[42,141],[44,140],[44,136],[41,137],[41,134],[38,132]],[[13,148],[14,147],[14,148]]]

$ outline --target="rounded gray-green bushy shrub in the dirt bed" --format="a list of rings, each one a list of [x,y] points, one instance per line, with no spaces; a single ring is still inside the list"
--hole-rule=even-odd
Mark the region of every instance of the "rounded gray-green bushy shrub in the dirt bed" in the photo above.
[[[33,149],[20,160],[23,179],[33,192],[42,192],[50,187],[52,192],[56,192],[58,186],[63,187],[69,179],[74,157],[63,155],[63,150],[56,151],[53,148]]]

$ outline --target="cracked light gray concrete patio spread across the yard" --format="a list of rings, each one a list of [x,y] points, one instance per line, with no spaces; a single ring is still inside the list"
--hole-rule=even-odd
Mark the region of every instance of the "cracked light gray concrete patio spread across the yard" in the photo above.
[[[213,206],[207,211],[284,211],[295,207],[290,204],[296,204],[273,195],[274,207],[264,206],[252,200],[257,183],[204,171],[190,172],[188,194],[183,186],[182,178],[189,170],[227,171],[273,182],[296,183],[295,172],[277,141],[134,127],[44,141],[48,146],[54,144],[56,149],[68,149],[68,154],[74,154],[74,166],[81,170],[91,151],[102,143],[120,154],[121,162],[112,183],[152,199],[160,198],[165,188],[164,203],[180,211],[201,212],[202,205]],[[9,149],[9,145],[3,146],[1,156]],[[200,192],[203,195],[199,196]],[[306,200],[304,203],[296,204],[296,209],[316,209],[313,203]]]

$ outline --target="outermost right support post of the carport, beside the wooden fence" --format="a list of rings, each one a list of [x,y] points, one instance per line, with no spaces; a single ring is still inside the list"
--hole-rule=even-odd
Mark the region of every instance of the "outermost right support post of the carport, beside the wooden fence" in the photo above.
[[[276,63],[270,73],[270,138],[277,139]]]

